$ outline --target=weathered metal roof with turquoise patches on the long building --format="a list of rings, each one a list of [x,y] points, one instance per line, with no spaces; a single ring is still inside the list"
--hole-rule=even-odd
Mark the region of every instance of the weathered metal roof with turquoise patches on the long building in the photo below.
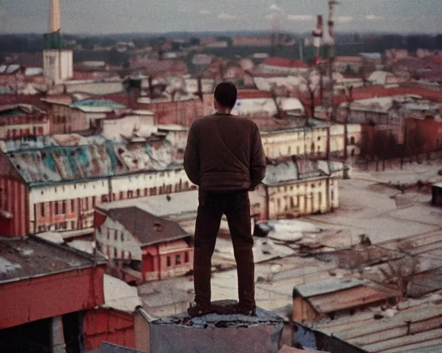
[[[33,185],[174,169],[180,163],[173,160],[166,140],[160,148],[106,142],[9,152],[8,157],[26,183]]]

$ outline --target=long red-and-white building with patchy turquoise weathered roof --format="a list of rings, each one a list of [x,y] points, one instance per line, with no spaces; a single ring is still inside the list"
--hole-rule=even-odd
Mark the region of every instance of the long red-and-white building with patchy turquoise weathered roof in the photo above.
[[[190,190],[169,142],[94,139],[0,155],[0,235],[89,234],[99,203]]]

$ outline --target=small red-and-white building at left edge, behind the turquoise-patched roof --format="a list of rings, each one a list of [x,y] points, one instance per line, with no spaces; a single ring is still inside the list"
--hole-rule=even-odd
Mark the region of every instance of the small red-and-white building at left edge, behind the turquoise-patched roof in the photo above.
[[[29,104],[0,105],[0,140],[51,133],[48,113]]]

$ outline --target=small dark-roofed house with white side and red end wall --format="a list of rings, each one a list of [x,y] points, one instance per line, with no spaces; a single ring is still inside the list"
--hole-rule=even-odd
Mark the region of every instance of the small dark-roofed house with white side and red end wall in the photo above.
[[[95,218],[99,248],[122,269],[120,276],[125,281],[157,281],[192,269],[193,234],[176,221],[135,206],[111,205],[106,210],[98,207]]]

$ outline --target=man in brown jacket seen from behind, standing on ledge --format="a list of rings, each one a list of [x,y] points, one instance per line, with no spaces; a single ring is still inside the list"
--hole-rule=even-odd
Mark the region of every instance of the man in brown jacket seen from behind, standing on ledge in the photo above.
[[[211,257],[222,214],[227,216],[238,268],[239,303],[235,312],[254,314],[256,310],[248,191],[264,179],[266,160],[256,123],[231,114],[237,95],[232,83],[220,83],[215,88],[216,112],[192,124],[184,153],[184,170],[199,186],[193,259],[195,306],[188,310],[191,316],[213,310]]]

